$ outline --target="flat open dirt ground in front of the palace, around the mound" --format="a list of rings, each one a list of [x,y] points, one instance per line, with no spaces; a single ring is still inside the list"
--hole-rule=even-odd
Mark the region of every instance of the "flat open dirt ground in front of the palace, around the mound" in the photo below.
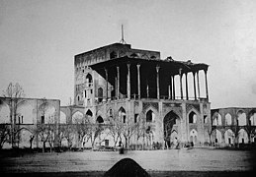
[[[79,151],[1,157],[1,172],[19,176],[103,176],[123,158],[132,158],[151,176],[226,176],[249,174],[251,151],[194,148],[190,150]]]

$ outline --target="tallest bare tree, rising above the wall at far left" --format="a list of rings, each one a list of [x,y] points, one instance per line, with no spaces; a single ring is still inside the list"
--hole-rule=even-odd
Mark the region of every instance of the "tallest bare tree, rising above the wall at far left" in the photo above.
[[[10,108],[10,121],[11,121],[11,144],[12,148],[15,147],[15,144],[18,140],[17,135],[19,135],[19,125],[16,124],[16,119],[18,116],[17,109],[18,105],[23,101],[21,98],[25,96],[23,88],[16,83],[10,83],[7,89],[3,90],[3,96],[8,100],[7,104]]]

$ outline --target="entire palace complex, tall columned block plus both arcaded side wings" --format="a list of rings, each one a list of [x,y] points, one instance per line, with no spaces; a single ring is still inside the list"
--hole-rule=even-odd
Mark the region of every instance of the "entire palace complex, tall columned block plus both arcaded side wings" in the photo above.
[[[211,110],[208,68],[191,60],[161,59],[158,51],[124,43],[75,55],[74,105],[60,106],[57,99],[0,97],[1,133],[17,131],[3,148],[43,148],[42,135],[49,134],[39,128],[50,124],[56,126],[54,135],[62,135],[62,147],[114,147],[120,141],[128,148],[255,143],[256,108]]]

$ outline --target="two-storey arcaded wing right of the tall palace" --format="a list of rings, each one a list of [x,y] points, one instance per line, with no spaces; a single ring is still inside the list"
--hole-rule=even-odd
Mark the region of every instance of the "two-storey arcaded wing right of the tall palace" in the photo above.
[[[256,143],[256,108],[227,107],[211,110],[216,146]]]

